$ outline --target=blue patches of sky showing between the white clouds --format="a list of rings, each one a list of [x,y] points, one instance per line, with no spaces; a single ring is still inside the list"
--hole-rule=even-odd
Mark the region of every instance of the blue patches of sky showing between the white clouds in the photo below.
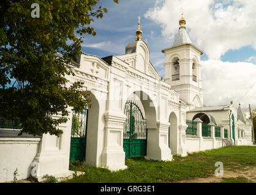
[[[96,19],[96,21],[92,23],[92,26],[96,29],[97,35],[96,37],[86,35],[84,44],[111,42],[116,44],[116,48],[111,48],[107,51],[105,48],[85,46],[82,51],[98,55],[99,57],[124,54],[126,44],[134,41],[135,30],[138,28],[138,16],[140,16],[141,30],[143,30],[142,38],[143,40],[147,39],[151,53],[156,52],[159,54],[159,59],[151,59],[153,64],[156,63],[157,60],[160,60],[160,54],[162,54],[161,50],[170,47],[174,38],[167,39],[167,37],[162,34],[161,24],[157,24],[155,21],[152,21],[152,19],[145,18],[145,13],[154,7],[155,4],[156,1],[151,0],[121,0],[119,4],[115,4],[112,0],[102,1],[102,7],[106,7],[108,13],[105,14],[102,19]],[[181,7],[179,9],[181,10]],[[186,11],[184,12],[186,15]],[[180,15],[178,15],[178,17],[180,17]],[[176,26],[176,31],[178,32],[178,20],[173,26]],[[189,33],[190,29],[187,29],[187,31]],[[193,39],[192,42],[194,42]],[[228,62],[245,62],[251,56],[256,56],[256,50],[248,45],[239,49],[230,49],[225,52],[220,59]],[[164,59],[164,54],[162,54],[162,59]],[[207,54],[201,55],[201,60],[208,59]]]

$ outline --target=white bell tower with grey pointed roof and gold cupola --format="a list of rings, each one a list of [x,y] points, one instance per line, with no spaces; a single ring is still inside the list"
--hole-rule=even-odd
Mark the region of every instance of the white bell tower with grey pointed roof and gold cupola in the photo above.
[[[203,106],[203,89],[201,88],[200,56],[198,49],[186,31],[186,19],[181,14],[179,30],[171,48],[162,49],[165,54],[165,82],[177,91],[180,98],[189,107]]]

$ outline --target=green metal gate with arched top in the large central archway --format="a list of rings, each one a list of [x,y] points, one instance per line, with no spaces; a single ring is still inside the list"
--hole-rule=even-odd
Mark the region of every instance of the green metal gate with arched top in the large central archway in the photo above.
[[[126,102],[124,114],[124,152],[126,157],[141,157],[146,155],[147,129],[146,119],[140,108],[134,102]]]

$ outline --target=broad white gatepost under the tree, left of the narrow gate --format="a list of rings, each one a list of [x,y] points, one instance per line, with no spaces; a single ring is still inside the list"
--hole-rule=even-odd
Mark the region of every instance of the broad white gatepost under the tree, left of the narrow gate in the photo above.
[[[61,137],[43,134],[42,141],[39,146],[39,152],[33,161],[33,172],[31,175],[39,182],[43,180],[43,176],[48,174],[57,179],[67,178],[73,175],[73,171],[69,171],[69,152],[70,152],[70,136],[72,127],[72,110],[67,108],[69,112],[69,120],[58,126],[63,131]],[[60,118],[61,115],[53,116]]]

